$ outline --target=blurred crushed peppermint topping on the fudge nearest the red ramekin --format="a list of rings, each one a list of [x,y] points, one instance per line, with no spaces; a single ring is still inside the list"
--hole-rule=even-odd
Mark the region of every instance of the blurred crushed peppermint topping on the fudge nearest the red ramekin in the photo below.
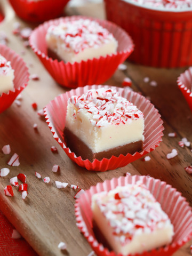
[[[98,48],[111,41],[113,37],[109,31],[98,22],[89,19],[78,19],[61,22],[47,29],[46,38],[57,38],[62,42],[63,50],[75,54],[91,47]]]

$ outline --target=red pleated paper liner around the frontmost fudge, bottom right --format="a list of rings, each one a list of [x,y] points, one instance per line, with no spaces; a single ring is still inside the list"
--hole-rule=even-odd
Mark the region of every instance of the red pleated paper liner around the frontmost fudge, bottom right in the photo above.
[[[115,256],[115,252],[104,248],[97,241],[93,232],[91,198],[95,193],[101,191],[109,191],[117,186],[126,186],[127,184],[135,184],[141,181],[154,195],[156,200],[161,204],[164,212],[169,216],[174,227],[174,236],[171,244],[153,249],[141,254],[136,253],[134,256],[170,256],[177,251],[182,245],[189,241],[192,236],[192,212],[186,198],[181,196],[175,188],[167,185],[164,181],[157,180],[147,176],[128,176],[119,177],[112,180],[106,180],[98,183],[97,186],[91,187],[81,195],[75,203],[75,215],[78,228],[81,230],[95,254],[98,256]],[[118,256],[122,254],[118,254]],[[130,256],[133,254],[129,254]],[[127,255],[127,256],[129,256]]]

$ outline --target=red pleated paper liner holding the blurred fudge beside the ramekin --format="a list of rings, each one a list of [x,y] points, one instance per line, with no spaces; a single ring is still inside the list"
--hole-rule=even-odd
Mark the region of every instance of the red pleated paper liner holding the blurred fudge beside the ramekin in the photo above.
[[[106,28],[118,41],[117,53],[106,55],[98,59],[75,62],[73,64],[64,61],[53,60],[47,56],[45,35],[51,25],[58,25],[61,22],[90,19],[97,21],[103,28]],[[51,76],[62,86],[76,88],[87,84],[102,84],[111,77],[118,65],[129,57],[133,51],[133,42],[129,35],[122,29],[106,20],[73,16],[60,18],[45,22],[37,27],[30,36],[30,45],[37,54],[43,65]]]

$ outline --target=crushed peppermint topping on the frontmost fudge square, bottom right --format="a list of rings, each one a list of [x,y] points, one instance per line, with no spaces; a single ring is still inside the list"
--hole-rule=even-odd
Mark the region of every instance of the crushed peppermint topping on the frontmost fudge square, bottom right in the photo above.
[[[145,185],[129,184],[109,192],[93,195],[106,218],[113,235],[122,245],[131,242],[136,235],[152,233],[170,225],[170,220],[161,205]]]

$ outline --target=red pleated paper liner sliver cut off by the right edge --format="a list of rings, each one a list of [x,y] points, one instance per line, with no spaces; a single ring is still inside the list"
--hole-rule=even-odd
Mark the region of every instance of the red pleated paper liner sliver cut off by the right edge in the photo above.
[[[177,83],[192,111],[192,67],[179,76]]]

